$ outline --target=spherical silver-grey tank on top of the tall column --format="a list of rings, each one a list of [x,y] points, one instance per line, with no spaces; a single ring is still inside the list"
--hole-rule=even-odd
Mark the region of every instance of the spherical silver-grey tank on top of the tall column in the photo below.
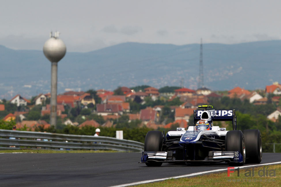
[[[50,62],[59,62],[65,56],[66,47],[61,39],[51,37],[45,42],[43,52]]]

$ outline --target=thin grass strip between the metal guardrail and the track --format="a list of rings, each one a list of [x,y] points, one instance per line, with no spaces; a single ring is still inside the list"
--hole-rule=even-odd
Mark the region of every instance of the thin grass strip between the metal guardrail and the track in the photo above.
[[[26,153],[94,153],[94,152],[118,152],[113,150],[0,150],[0,153],[13,153],[13,152],[26,152]]]

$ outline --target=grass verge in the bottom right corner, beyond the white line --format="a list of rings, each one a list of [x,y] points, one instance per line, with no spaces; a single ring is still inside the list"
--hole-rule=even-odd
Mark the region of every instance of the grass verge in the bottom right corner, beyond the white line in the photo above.
[[[186,168],[188,169],[188,167]],[[263,175],[263,169],[265,176]],[[251,176],[250,175],[251,172]],[[274,175],[275,172],[275,176]],[[222,173],[212,173],[208,175],[200,175],[192,178],[169,179],[161,182],[137,185],[137,187],[156,187],[156,186],[281,186],[281,165],[267,165],[264,167],[255,167],[254,176],[252,176],[252,168],[240,169],[239,177],[237,171],[227,176],[227,171]],[[267,173],[267,176],[266,176]]]

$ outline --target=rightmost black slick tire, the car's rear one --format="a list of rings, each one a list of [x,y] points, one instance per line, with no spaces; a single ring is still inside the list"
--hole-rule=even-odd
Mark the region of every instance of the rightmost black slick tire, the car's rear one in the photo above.
[[[261,132],[258,129],[248,129],[242,132],[245,138],[246,163],[261,163],[263,157]]]

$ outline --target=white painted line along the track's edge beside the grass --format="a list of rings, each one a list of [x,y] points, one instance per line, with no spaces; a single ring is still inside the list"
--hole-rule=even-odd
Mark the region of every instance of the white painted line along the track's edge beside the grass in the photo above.
[[[265,163],[265,164],[238,166],[238,167],[239,168],[245,168],[245,167],[273,165],[273,164],[281,164],[281,161],[280,162]],[[235,167],[235,169],[237,169],[238,167]],[[167,178],[161,178],[161,179],[144,180],[144,181],[127,183],[127,184],[120,184],[120,185],[110,186],[110,187],[133,186],[133,185],[146,184],[146,183],[150,183],[150,182],[157,182],[157,181],[162,181],[162,180],[167,180],[167,179],[177,179],[177,178],[183,178],[183,177],[191,177],[191,176],[195,176],[195,175],[202,175],[202,174],[206,174],[206,173],[213,173],[213,172],[226,171],[226,170],[227,170],[227,168],[225,168],[225,169],[215,169],[215,170],[210,170],[210,171],[201,171],[201,172],[191,173],[191,174],[187,174],[187,175],[179,175],[179,176],[175,176],[175,177],[167,177]]]

